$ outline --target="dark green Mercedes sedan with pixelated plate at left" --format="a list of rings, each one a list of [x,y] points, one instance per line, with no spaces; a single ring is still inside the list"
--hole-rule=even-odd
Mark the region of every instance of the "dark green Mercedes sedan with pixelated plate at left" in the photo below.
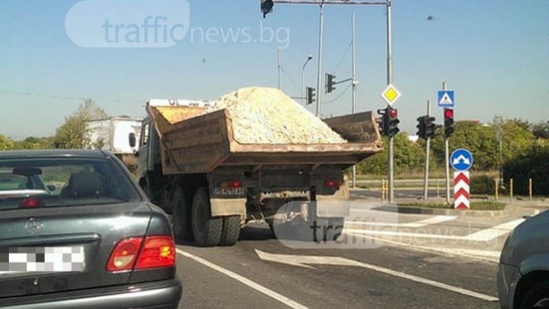
[[[172,227],[101,150],[0,152],[1,308],[177,308]]]

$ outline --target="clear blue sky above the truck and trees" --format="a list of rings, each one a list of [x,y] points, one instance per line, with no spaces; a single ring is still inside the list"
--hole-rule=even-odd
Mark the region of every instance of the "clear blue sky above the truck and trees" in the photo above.
[[[308,55],[314,58],[306,84],[316,87],[318,5],[275,4],[263,19],[259,2],[0,0],[0,134],[54,135],[87,98],[109,115],[143,117],[150,98],[213,100],[241,87],[277,87],[277,47],[281,89],[301,97]],[[358,112],[386,106],[385,11],[384,5],[324,9],[323,82],[325,73],[351,78],[356,16]],[[157,16],[148,39],[145,28],[137,34],[130,27],[150,26]],[[428,100],[441,123],[436,92],[443,82],[456,93],[458,121],[547,122],[547,16],[546,0],[393,0],[393,84],[401,93],[393,107],[401,131],[415,133]],[[314,104],[307,108],[316,111]],[[322,93],[320,111],[351,113],[349,82]]]

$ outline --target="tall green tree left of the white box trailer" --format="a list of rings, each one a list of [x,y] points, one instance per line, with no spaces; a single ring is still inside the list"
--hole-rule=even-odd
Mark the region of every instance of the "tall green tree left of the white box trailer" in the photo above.
[[[54,144],[56,148],[81,149],[90,144],[88,137],[89,129],[86,122],[91,120],[105,119],[108,115],[103,108],[97,106],[93,100],[86,100],[78,106],[78,110],[65,117],[65,124],[58,127]]]

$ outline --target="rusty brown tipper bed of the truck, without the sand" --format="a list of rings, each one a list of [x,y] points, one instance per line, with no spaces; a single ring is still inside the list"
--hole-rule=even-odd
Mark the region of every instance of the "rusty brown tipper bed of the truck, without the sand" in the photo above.
[[[382,150],[371,112],[325,119],[349,141],[342,144],[240,144],[233,137],[232,118],[222,109],[148,106],[161,140],[163,174],[209,173],[231,165],[354,165]]]

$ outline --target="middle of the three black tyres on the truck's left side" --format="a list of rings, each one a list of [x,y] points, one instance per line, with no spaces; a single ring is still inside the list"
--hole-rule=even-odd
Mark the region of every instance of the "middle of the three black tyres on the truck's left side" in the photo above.
[[[223,218],[212,218],[210,199],[206,187],[196,190],[191,211],[193,235],[200,247],[211,247],[219,243],[223,229]]]

